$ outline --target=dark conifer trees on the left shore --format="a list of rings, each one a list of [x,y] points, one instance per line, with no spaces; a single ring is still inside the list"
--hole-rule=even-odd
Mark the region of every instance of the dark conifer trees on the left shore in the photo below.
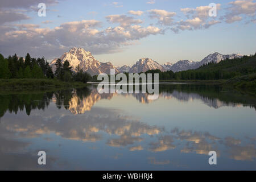
[[[57,59],[55,66],[56,70],[53,73],[52,67],[44,57],[36,59],[27,53],[23,59],[15,53],[15,55],[5,58],[0,54],[0,78],[55,78],[67,82],[87,82],[92,79],[88,73],[82,71],[80,65],[75,68],[76,72],[73,72],[68,60],[62,63],[60,59]]]

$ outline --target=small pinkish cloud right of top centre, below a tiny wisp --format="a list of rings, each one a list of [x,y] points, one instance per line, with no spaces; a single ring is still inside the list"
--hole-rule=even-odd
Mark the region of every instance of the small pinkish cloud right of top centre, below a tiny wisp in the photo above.
[[[148,10],[151,19],[158,19],[158,23],[164,26],[170,26],[173,23],[173,16],[176,15],[174,12],[166,10]]]

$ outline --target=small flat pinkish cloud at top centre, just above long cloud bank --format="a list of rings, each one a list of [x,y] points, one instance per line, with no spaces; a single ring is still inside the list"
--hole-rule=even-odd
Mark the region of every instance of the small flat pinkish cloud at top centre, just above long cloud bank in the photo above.
[[[133,17],[126,15],[108,15],[106,16],[106,19],[110,23],[119,23],[122,27],[127,27],[131,24],[142,23],[141,19],[134,19]]]

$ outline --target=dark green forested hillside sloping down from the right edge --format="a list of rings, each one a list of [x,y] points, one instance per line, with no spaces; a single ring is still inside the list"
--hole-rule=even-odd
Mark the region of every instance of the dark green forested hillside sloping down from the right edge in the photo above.
[[[187,71],[162,72],[159,69],[148,70],[145,73],[158,73],[159,80],[220,80],[230,79],[236,76],[250,75],[256,73],[255,55],[243,56],[236,59],[225,59],[219,63],[204,64],[197,69]]]

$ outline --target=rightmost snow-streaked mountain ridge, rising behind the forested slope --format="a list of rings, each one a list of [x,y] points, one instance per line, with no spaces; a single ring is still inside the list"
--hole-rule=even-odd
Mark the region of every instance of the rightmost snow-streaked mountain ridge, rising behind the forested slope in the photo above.
[[[208,64],[208,63],[219,63],[221,60],[228,59],[234,59],[234,58],[240,58],[243,55],[240,54],[232,54],[232,55],[222,55],[221,53],[214,52],[208,55],[207,57],[204,57],[201,61],[189,61],[189,60],[180,60],[177,61],[177,63],[171,65],[167,70],[171,70],[173,72],[179,72],[179,71],[186,71],[188,69],[196,69],[199,68],[201,65]]]

